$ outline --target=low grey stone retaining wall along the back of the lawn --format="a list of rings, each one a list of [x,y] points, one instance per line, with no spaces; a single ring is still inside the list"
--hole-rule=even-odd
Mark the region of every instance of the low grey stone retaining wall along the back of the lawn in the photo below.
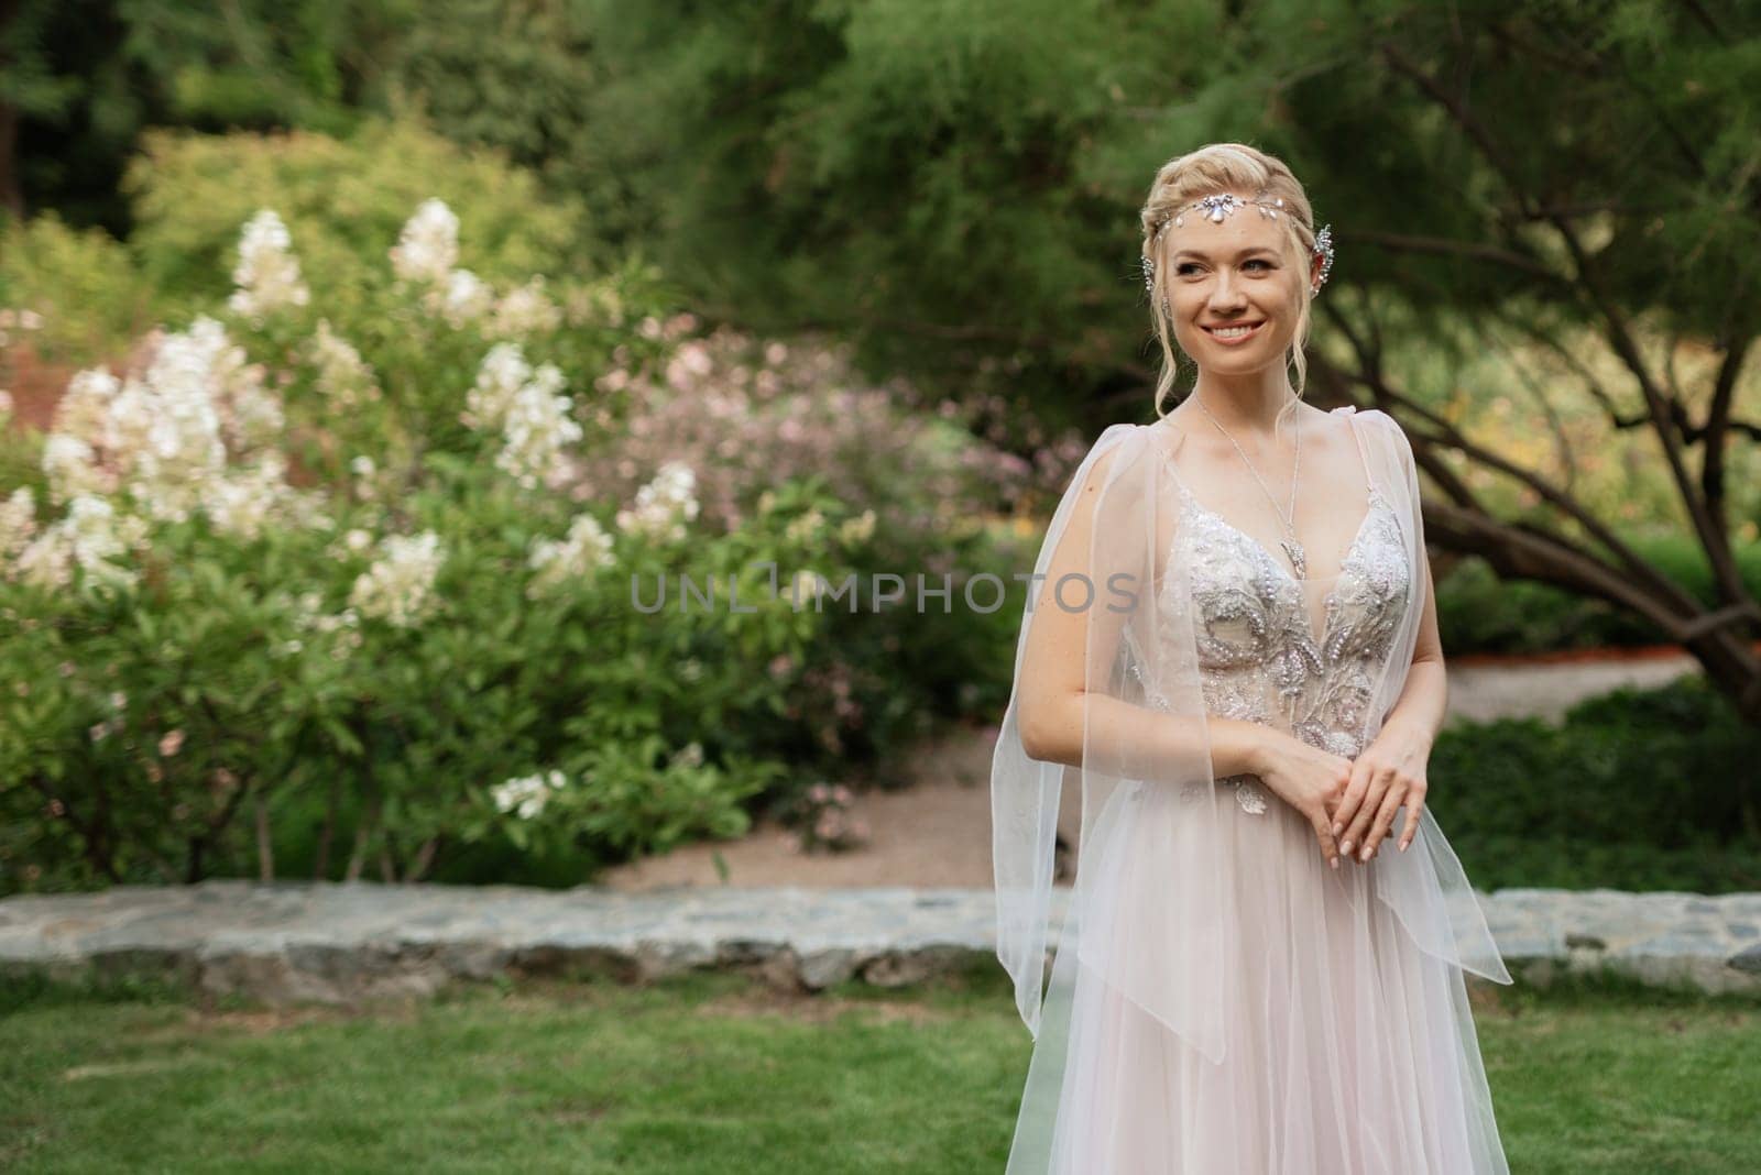
[[[1761,992],[1761,894],[1499,890],[1481,902],[1520,982],[1608,969],[1655,985]],[[808,990],[849,978],[896,987],[1000,966],[993,936],[990,890],[204,881],[0,901],[9,974],[146,971],[271,1004],[423,996],[497,976],[588,971],[639,982],[694,967],[738,967]]]

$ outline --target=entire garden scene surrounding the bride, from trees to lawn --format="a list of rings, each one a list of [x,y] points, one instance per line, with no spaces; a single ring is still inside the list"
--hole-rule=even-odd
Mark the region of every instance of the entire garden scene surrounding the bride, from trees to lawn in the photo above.
[[[1243,141],[1338,248],[1308,399],[1418,456],[1513,1166],[1761,1170],[1752,996],[1657,987],[1761,973],[1757,32],[0,5],[0,1166],[1000,1170],[1013,575],[1153,419],[1150,179]]]

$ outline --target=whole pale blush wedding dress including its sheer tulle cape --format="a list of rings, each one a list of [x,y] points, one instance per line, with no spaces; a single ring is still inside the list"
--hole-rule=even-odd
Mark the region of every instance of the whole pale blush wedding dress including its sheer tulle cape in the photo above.
[[[1340,412],[1367,510],[1337,575],[1294,579],[1194,496],[1166,422],[1108,429],[1053,517],[1035,572],[1092,508],[1095,579],[1146,591],[1090,610],[1081,767],[1021,748],[1023,619],[991,777],[998,955],[1035,1034],[1011,1175],[1507,1175],[1463,973],[1511,978],[1430,813],[1405,853],[1402,809],[1375,858],[1331,869],[1296,809],[1210,770],[1208,714],[1351,758],[1404,688],[1430,589],[1411,447]],[[1173,732],[1153,758],[1120,702]],[[1078,874],[1041,999],[1065,772]]]

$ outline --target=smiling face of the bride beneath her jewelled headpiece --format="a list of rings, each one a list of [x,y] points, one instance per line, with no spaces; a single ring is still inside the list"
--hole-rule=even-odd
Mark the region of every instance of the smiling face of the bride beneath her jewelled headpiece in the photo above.
[[[1203,209],[1183,220],[1162,230],[1162,288],[1180,350],[1222,375],[1284,364],[1312,280],[1286,253],[1284,213],[1273,220],[1247,204],[1222,222]]]

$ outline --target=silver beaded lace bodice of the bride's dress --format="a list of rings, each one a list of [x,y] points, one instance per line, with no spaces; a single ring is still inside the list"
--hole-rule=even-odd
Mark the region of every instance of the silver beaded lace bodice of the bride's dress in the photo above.
[[[1278,726],[1345,758],[1358,755],[1411,580],[1400,522],[1374,484],[1368,512],[1326,593],[1319,639],[1303,584],[1257,540],[1185,491],[1168,558],[1185,561],[1206,711]],[[1187,602],[1171,600],[1169,589],[1160,607],[1185,610]],[[1169,709],[1152,682],[1143,684],[1150,705]],[[1266,792],[1254,776],[1219,783],[1234,786],[1243,811],[1266,811]],[[1189,799],[1197,793],[1187,792]]]

